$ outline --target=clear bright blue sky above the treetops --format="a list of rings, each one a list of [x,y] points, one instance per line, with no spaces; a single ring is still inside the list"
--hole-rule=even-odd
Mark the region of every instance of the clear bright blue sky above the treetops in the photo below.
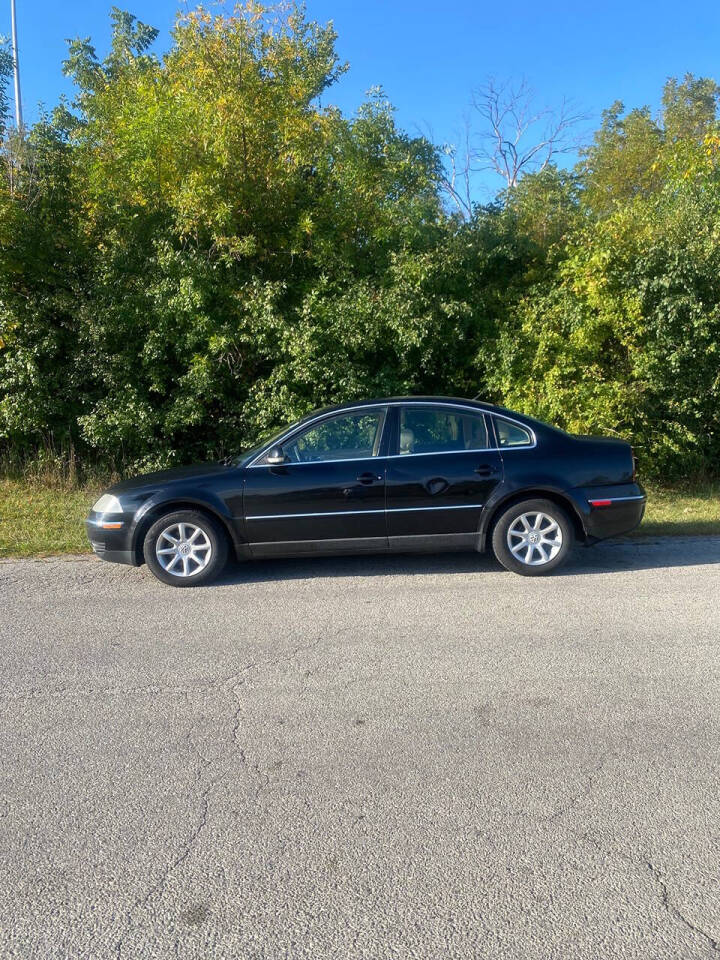
[[[39,101],[72,93],[62,76],[65,38],[90,35],[107,46],[104,0],[16,0],[26,122]],[[167,46],[179,0],[116,0],[161,30]],[[603,0],[588,4],[517,0],[308,0],[311,17],[332,19],[350,62],[327,102],[352,112],[381,84],[411,131],[452,141],[471,91],[489,76],[525,77],[541,105],[572,97],[597,123],[616,99],[657,108],[668,76],[720,78],[720,4],[711,0]],[[10,0],[0,0],[0,33],[10,33]],[[492,191],[492,181],[486,181]],[[482,185],[480,185],[482,187]],[[482,192],[482,190],[480,191]]]

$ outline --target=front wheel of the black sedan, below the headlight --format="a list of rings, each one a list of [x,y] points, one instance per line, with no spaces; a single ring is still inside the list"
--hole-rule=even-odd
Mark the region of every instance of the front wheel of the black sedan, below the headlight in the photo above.
[[[150,527],[143,543],[145,563],[158,580],[172,587],[210,583],[225,567],[227,548],[217,520],[198,510],[166,513]]]

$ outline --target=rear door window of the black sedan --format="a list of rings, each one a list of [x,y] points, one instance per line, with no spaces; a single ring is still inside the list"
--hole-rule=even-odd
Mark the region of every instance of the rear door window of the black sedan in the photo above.
[[[488,433],[481,413],[442,407],[403,407],[400,411],[400,456],[486,450]]]

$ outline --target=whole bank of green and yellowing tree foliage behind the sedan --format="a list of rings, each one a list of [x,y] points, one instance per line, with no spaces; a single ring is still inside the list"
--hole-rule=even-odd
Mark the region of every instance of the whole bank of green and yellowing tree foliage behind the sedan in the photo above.
[[[717,472],[713,81],[668,81],[657,118],[614,104],[574,171],[460,220],[382,90],[322,105],[345,70],[331,25],[198,9],[159,57],[111,16],[104,59],[70,44],[75,101],[4,140],[6,459],[133,471],[323,403],[442,392],[618,432],[648,473]]]

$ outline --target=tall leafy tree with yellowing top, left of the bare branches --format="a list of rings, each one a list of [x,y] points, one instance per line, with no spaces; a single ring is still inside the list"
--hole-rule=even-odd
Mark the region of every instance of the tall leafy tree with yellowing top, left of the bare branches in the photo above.
[[[360,389],[348,352],[327,353],[321,375],[310,345],[328,317],[342,342],[341,307],[366,289],[384,296],[396,256],[432,250],[447,221],[435,149],[397,128],[381,91],[352,118],[319,106],[345,68],[332,28],[299,7],[199,9],[162,59],[152,28],[116,9],[112,21],[104,60],[89,40],[70,45],[75,119],[33,134],[53,142],[56,166],[36,170],[35,199],[13,207],[28,240],[9,240],[6,263],[35,269],[29,245],[50,252],[67,237],[75,259],[54,261],[58,286],[80,279],[62,303],[58,290],[23,306],[6,273],[0,435],[32,446],[77,433],[140,469],[238,449],[330,384],[333,399]],[[391,318],[376,323],[392,336]]]

